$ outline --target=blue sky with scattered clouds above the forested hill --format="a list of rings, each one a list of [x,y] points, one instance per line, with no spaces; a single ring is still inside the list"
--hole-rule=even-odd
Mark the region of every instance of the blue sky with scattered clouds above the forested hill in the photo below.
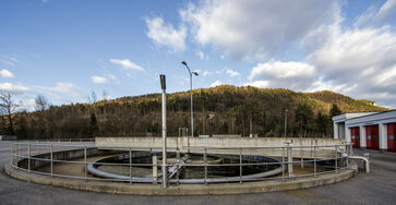
[[[2,0],[0,92],[26,109],[229,84],[396,108],[396,0]]]

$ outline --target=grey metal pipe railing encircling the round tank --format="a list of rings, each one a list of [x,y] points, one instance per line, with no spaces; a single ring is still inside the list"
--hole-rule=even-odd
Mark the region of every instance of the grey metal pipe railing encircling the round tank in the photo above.
[[[40,143],[26,142],[13,143],[11,147],[10,164],[15,169],[32,173],[51,177],[73,178],[84,180],[123,181],[123,182],[148,182],[160,183],[161,168],[157,159],[137,160],[139,153],[147,152],[148,156],[160,156],[161,147],[97,147],[94,144],[64,144],[64,143]],[[170,183],[216,183],[216,182],[248,182],[263,180],[291,180],[300,177],[316,177],[331,172],[348,169],[348,156],[351,155],[351,144],[292,146],[286,144],[278,147],[168,147],[176,161],[180,162],[181,149],[202,155],[200,162],[180,164],[175,177],[169,179]],[[110,150],[112,149],[112,150]],[[120,155],[122,154],[122,155]],[[209,156],[228,156],[230,162],[211,164]],[[128,162],[104,162],[94,156],[120,156],[129,159]],[[127,157],[128,156],[128,157]],[[251,160],[254,156],[271,157],[273,161]],[[166,164],[166,169],[175,167],[176,164]],[[110,174],[109,178],[99,178],[88,172],[88,167],[117,166],[128,169],[128,174]],[[179,165],[178,165],[179,166]],[[278,172],[260,172],[244,174],[249,167],[275,167]],[[194,168],[202,170],[203,174],[194,179],[180,179],[180,168]],[[238,176],[209,177],[208,170],[214,167],[239,167]],[[153,170],[152,177],[141,177],[134,169],[147,168]],[[279,171],[280,170],[280,171]],[[271,170],[269,170],[271,171]],[[155,174],[154,174],[155,172]]]

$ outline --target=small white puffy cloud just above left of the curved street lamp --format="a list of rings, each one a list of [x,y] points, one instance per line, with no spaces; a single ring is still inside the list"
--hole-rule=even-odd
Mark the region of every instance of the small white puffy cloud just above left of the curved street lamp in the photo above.
[[[183,26],[175,29],[172,25],[166,25],[160,17],[146,19],[146,35],[155,45],[169,47],[175,52],[185,49],[187,29]]]

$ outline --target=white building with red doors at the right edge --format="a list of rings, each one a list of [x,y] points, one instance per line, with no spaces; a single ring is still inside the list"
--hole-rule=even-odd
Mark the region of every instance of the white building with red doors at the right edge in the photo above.
[[[396,152],[396,110],[353,112],[333,117],[334,138],[353,148]]]

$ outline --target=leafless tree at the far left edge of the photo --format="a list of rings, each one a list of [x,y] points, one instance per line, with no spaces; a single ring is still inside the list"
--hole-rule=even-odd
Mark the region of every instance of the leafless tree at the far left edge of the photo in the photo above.
[[[20,104],[12,100],[11,94],[0,94],[0,113],[7,118],[4,121],[8,126],[9,134],[11,135],[14,135],[12,114],[15,112],[17,107],[20,107]]]

